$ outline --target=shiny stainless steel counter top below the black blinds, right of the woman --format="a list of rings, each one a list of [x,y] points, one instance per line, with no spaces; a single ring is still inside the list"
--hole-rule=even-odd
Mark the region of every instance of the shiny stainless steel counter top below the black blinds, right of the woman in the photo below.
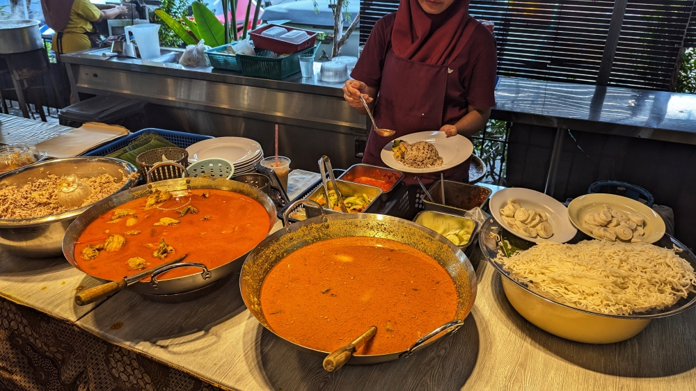
[[[696,144],[696,95],[503,77],[492,118]]]

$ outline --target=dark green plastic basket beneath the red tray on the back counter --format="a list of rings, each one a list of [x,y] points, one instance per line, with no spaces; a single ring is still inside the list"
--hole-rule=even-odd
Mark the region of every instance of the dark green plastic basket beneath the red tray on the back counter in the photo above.
[[[299,56],[302,54],[313,54],[315,49],[316,47],[310,47],[309,49],[290,54],[290,56],[273,58],[269,57],[275,54],[273,51],[255,48],[256,56],[237,54],[237,58],[242,63],[242,74],[244,76],[280,80],[300,72]]]

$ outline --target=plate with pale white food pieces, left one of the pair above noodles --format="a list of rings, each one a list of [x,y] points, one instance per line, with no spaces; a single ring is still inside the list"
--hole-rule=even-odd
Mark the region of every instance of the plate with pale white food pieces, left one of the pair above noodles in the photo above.
[[[498,224],[528,241],[565,243],[578,233],[562,203],[532,189],[513,187],[497,191],[489,206]]]

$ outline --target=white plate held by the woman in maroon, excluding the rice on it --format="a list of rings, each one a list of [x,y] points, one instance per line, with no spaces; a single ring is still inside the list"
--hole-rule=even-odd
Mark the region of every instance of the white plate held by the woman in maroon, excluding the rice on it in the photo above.
[[[391,146],[394,142],[390,141],[382,148],[380,155],[382,161],[387,166],[395,170],[403,171],[404,173],[438,173],[448,168],[459,166],[459,164],[464,163],[464,161],[471,156],[472,152],[474,152],[474,145],[468,138],[461,136],[461,134],[448,137],[445,135],[444,131],[420,131],[418,133],[406,134],[406,136],[396,138],[396,140],[403,140],[409,144],[417,143],[418,141],[427,141],[436,147],[438,154],[442,157],[442,166],[439,167],[409,167],[394,158],[394,152],[391,150]]]

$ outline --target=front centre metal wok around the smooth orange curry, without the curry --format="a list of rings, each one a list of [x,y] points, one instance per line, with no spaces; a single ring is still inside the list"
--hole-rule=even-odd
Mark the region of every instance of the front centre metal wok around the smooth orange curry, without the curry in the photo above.
[[[310,202],[319,207],[316,202],[300,200],[288,207],[287,210],[294,209],[300,202]],[[421,250],[441,264],[443,269],[448,272],[454,281],[459,296],[454,319],[420,340],[414,341],[411,349],[380,355],[353,356],[349,360],[349,364],[374,364],[395,360],[404,355],[408,356],[421,346],[427,346],[444,335],[457,330],[470,312],[476,298],[476,274],[466,255],[451,241],[429,228],[401,218],[366,213],[331,214],[309,218],[292,225],[286,223],[285,228],[269,235],[246,258],[242,267],[242,276],[239,279],[242,298],[244,298],[244,303],[249,311],[271,333],[276,334],[264,317],[260,301],[261,287],[269,271],[283,257],[294,250],[316,241],[337,237],[381,237]],[[285,340],[283,335],[276,334],[276,336]],[[330,353],[310,349],[288,340],[285,342],[315,356],[326,356]]]

